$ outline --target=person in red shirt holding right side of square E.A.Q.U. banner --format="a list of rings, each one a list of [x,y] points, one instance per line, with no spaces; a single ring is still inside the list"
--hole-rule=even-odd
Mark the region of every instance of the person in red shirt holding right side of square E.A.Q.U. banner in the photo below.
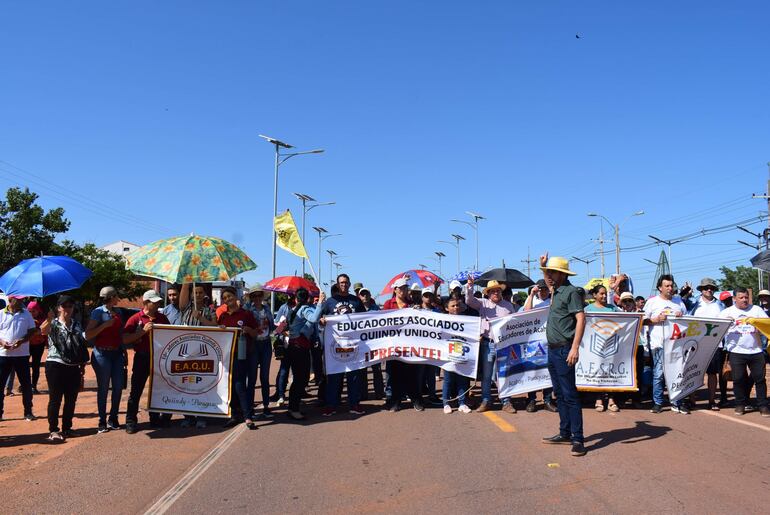
[[[245,422],[249,429],[256,429],[257,425],[253,420],[254,406],[250,405],[252,403],[249,402],[249,396],[246,395],[246,382],[251,377],[251,384],[256,383],[257,367],[256,363],[253,367],[250,366],[246,357],[247,347],[253,344],[251,338],[259,334],[257,320],[251,311],[240,307],[238,292],[235,288],[228,286],[222,290],[222,304],[227,309],[217,315],[217,323],[222,327],[240,329],[238,347],[237,350],[233,350],[233,352],[237,352],[237,359],[233,362],[234,370],[232,372],[235,393],[230,401],[232,416],[225,422],[225,427],[235,427],[241,422]]]

